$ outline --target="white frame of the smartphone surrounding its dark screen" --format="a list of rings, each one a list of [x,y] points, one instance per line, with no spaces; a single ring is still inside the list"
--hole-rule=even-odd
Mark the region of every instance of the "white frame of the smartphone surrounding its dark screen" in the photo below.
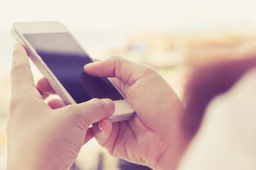
[[[41,57],[37,54],[37,52],[32,47],[32,45],[30,45],[29,42],[26,40],[26,38],[23,36],[23,34],[42,34],[42,33],[67,32],[74,38],[74,40],[76,40],[76,38],[73,36],[73,34],[71,34],[71,32],[67,29],[67,27],[64,26],[62,23],[55,22],[55,21],[53,21],[53,22],[14,23],[13,27],[14,27],[13,31],[15,31],[17,36],[20,37],[20,40],[22,40],[24,45],[26,45],[26,47],[28,48],[30,59],[38,67],[39,71],[41,71],[43,76],[47,79],[47,81],[52,86],[52,88],[56,91],[56,93],[61,97],[61,99],[67,105],[76,104],[74,99],[66,91],[66,89],[63,87],[63,85],[61,85],[61,82],[58,81],[58,79],[55,77],[55,75],[52,73],[52,71],[47,67],[47,65],[44,63],[44,61],[41,59]],[[13,31],[12,31],[12,34],[14,34]],[[15,39],[17,39],[17,37]],[[78,42],[78,40],[76,40],[76,42],[84,50],[84,48]],[[125,95],[122,93],[122,91],[120,91],[120,89],[111,80],[110,80],[110,82],[117,89],[117,91],[124,97],[124,99],[114,101],[115,105],[116,105],[116,111],[109,118],[109,120],[111,122],[119,122],[119,121],[122,121],[122,120],[130,119],[134,114],[134,109],[131,107],[130,103],[125,98]]]

